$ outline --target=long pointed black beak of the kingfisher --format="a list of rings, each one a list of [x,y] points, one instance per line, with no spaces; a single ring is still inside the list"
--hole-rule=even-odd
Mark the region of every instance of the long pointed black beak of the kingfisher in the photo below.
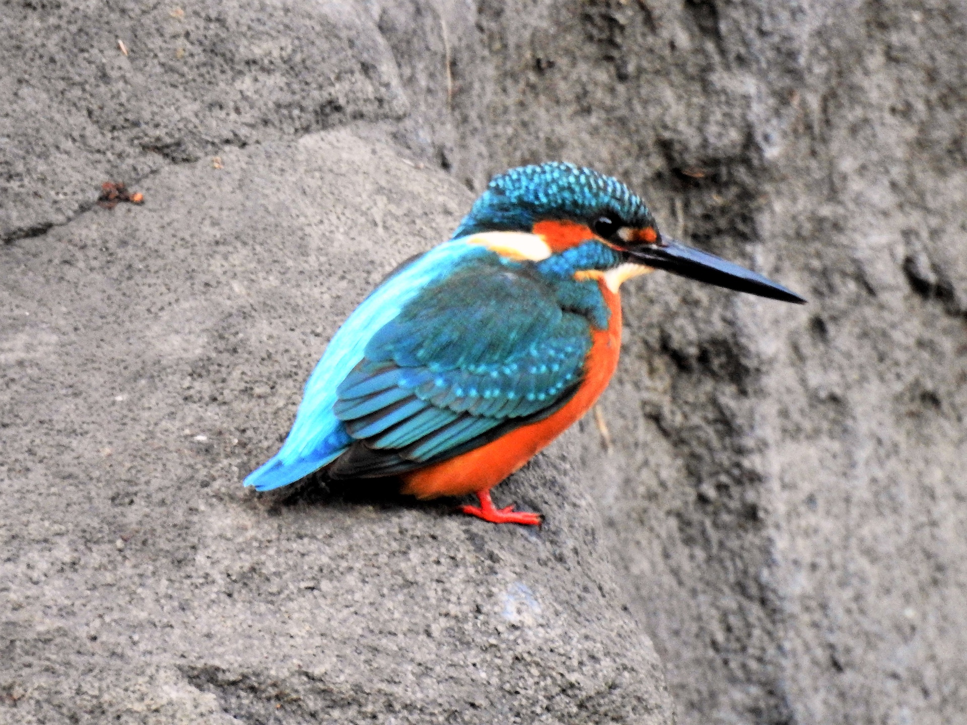
[[[715,254],[692,249],[663,234],[656,244],[629,250],[629,254],[635,262],[665,270],[673,275],[687,276],[699,282],[708,282],[725,289],[768,297],[770,300],[806,303],[804,298],[772,279],[728,262]]]

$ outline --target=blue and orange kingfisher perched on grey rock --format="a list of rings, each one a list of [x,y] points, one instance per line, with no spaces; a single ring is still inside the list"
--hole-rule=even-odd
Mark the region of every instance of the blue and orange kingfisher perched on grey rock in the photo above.
[[[491,489],[598,400],[618,365],[623,282],[655,270],[782,302],[781,284],[659,230],[617,179],[550,161],[495,176],[446,242],[388,275],[338,329],[288,436],[245,478],[396,478],[418,499],[541,525]]]

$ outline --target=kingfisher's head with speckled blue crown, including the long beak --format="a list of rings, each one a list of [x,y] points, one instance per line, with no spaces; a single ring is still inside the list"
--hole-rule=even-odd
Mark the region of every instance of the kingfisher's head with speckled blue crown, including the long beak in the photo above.
[[[504,256],[534,262],[566,254],[577,261],[569,250],[580,246],[587,249],[580,256],[594,265],[590,269],[607,274],[615,288],[659,269],[760,297],[806,302],[763,275],[662,234],[628,187],[571,163],[521,166],[494,177],[454,232],[454,239],[470,237]],[[607,253],[595,253],[595,246]]]

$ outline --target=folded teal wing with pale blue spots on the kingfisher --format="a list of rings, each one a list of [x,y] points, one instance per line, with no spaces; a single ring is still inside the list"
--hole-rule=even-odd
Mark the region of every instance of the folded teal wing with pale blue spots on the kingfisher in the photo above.
[[[464,265],[403,305],[338,385],[352,443],[327,471],[396,475],[540,420],[577,389],[591,343],[587,319],[523,267]]]

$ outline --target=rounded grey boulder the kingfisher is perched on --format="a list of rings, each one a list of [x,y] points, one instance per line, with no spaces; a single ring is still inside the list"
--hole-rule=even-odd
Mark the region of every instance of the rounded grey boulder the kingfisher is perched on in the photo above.
[[[566,447],[499,494],[541,530],[241,488],[341,319],[472,199],[343,131],[222,160],[2,248],[0,718],[670,722]]]

